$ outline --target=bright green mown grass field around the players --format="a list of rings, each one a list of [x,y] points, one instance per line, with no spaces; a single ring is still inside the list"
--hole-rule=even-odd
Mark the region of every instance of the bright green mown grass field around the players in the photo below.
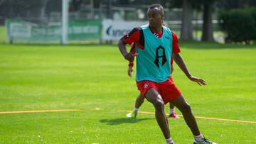
[[[174,65],[195,116],[256,121],[256,45],[184,43],[181,54],[208,82],[199,87]],[[0,111],[80,109],[0,114],[0,143],[165,143],[154,114],[125,117],[138,93],[116,46],[0,45]],[[154,108],[145,101],[140,111]],[[215,142],[256,141],[256,123],[197,121]],[[183,118],[169,125],[174,142],[192,143]]]

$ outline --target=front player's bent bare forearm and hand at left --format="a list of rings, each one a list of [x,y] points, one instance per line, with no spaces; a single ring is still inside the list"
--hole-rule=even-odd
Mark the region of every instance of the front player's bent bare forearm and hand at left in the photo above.
[[[134,61],[134,57],[136,55],[138,55],[137,53],[135,53],[134,55],[132,54],[132,52],[127,52],[127,48],[126,48],[126,43],[124,41],[124,38],[121,38],[118,41],[118,48],[120,50],[120,52],[122,53],[122,55],[124,56],[125,60],[128,60],[129,62]]]

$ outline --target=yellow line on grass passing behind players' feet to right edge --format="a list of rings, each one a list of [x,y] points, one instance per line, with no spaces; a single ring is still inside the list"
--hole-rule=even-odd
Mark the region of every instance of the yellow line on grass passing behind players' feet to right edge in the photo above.
[[[122,111],[122,112],[131,113],[132,111]],[[139,113],[154,114],[154,112],[150,112],[150,111],[139,111]],[[166,115],[169,115],[169,114],[166,114]],[[182,117],[182,115],[178,115],[178,116]],[[195,116],[195,118],[210,119],[210,120],[216,120],[216,121],[232,121],[232,122],[238,122],[238,123],[256,123],[256,121],[242,121],[242,120],[225,119],[225,118],[207,118],[203,116]]]

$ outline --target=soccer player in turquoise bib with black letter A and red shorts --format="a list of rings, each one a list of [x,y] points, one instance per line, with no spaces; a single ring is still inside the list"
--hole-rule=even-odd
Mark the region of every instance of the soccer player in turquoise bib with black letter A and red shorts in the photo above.
[[[179,51],[172,50],[173,33],[169,28],[163,26],[164,9],[161,4],[152,4],[147,11],[149,24],[134,28],[124,35],[118,42],[118,47],[124,58],[133,61],[137,56],[136,81],[139,91],[153,104],[155,108],[156,121],[161,128],[167,144],[173,144],[169,131],[169,123],[164,113],[164,104],[171,102],[178,108],[186,124],[193,133],[193,143],[208,143],[210,140],[203,137],[199,131],[196,119],[191,111],[191,106],[186,102],[181,91],[171,81],[171,57],[186,74],[186,77],[199,85],[206,82],[194,77],[187,69]],[[127,52],[127,43],[136,43],[136,52]]]

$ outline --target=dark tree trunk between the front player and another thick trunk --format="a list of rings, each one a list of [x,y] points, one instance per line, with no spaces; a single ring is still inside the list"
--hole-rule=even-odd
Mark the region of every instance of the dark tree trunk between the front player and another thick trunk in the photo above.
[[[183,0],[182,26],[180,40],[193,40],[193,9],[188,0]]]

